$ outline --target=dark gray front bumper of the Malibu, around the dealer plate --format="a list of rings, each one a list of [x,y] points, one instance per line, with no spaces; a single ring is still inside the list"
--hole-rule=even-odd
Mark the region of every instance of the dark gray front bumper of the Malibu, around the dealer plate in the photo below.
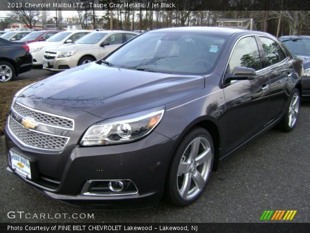
[[[23,146],[5,133],[8,168],[10,150],[17,150],[33,158],[38,176],[35,180],[20,177],[39,191],[56,200],[86,209],[132,209],[153,206],[163,195],[168,166],[174,141],[152,132],[144,139],[128,144],[103,147],[80,147],[64,150],[61,156],[67,160],[59,174],[60,179],[47,176],[41,166],[47,157],[54,156],[40,151],[23,150]],[[46,166],[46,165],[45,165]],[[31,165],[32,169],[32,165]],[[85,195],[82,189],[90,180],[131,180],[139,190],[130,195]],[[53,181],[50,185],[47,181]],[[55,185],[56,183],[56,185]]]

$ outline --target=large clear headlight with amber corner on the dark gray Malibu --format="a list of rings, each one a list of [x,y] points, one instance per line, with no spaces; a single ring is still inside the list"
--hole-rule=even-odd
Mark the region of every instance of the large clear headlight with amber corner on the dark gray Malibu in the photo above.
[[[154,130],[164,111],[162,108],[156,108],[101,121],[86,131],[80,144],[98,146],[138,140]]]

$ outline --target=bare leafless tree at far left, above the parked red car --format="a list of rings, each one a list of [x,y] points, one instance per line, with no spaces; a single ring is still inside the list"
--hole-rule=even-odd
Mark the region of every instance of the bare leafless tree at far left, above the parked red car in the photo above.
[[[29,10],[25,7],[25,0],[9,0],[9,2],[15,3],[12,4],[13,7],[11,7],[11,11],[7,13],[7,16],[12,18],[14,21],[24,23],[28,28],[32,29],[37,21],[42,19],[41,9],[32,8]]]

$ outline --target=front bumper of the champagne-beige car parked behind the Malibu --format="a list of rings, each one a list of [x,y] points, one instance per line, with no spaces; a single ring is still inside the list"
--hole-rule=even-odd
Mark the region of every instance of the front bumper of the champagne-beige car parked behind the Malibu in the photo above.
[[[57,58],[59,53],[56,54],[54,59],[43,58],[43,68],[51,71],[63,71],[76,67],[78,65],[78,57],[73,55],[70,57]],[[47,64],[47,66],[45,65]]]

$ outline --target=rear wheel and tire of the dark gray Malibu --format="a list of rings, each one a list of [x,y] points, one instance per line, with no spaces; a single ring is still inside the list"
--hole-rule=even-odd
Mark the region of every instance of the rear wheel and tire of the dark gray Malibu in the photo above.
[[[294,88],[289,99],[289,104],[285,109],[285,114],[280,121],[278,128],[284,132],[292,131],[299,115],[300,93],[298,89]]]

